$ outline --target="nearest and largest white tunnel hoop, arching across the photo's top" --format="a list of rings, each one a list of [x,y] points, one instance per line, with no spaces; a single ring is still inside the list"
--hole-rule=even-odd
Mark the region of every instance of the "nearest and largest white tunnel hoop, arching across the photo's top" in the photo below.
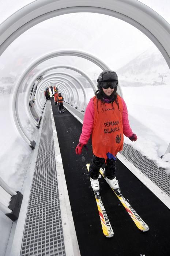
[[[170,67],[170,25],[150,7],[137,0],[34,1],[1,24],[0,54],[30,27],[54,16],[73,12],[95,12],[128,22],[154,42]]]

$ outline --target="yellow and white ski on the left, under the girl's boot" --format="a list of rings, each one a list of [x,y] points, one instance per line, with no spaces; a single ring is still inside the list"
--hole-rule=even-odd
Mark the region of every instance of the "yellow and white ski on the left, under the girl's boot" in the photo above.
[[[87,163],[87,170],[89,169],[90,164]],[[107,217],[107,213],[105,211],[105,207],[103,206],[103,202],[100,196],[100,192],[99,191],[94,191],[94,196],[96,199],[96,203],[97,203],[97,208],[99,211],[99,217],[101,220],[101,225],[102,225],[102,230],[103,230],[103,234],[105,235],[105,237],[110,238],[113,237],[113,229],[112,226],[110,224],[109,218]]]

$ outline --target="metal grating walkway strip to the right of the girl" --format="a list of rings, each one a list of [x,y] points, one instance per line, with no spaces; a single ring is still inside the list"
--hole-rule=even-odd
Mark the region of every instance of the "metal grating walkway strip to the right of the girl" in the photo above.
[[[170,175],[165,172],[162,167],[158,167],[150,159],[141,155],[128,144],[124,143],[123,151],[120,152],[128,159],[140,172],[145,174],[151,181],[153,181],[162,191],[170,196]]]

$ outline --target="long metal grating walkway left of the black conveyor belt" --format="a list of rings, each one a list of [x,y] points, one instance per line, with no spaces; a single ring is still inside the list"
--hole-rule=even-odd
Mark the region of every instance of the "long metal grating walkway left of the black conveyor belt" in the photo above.
[[[20,256],[65,255],[50,102],[42,125]]]

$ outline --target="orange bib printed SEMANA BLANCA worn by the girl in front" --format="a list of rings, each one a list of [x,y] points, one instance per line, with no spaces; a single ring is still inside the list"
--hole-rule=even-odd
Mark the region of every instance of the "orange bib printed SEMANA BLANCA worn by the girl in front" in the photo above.
[[[116,157],[123,149],[123,105],[120,96],[117,96],[119,109],[116,102],[105,103],[93,97],[94,102],[94,123],[92,129],[92,149],[97,157],[108,158],[107,153]],[[103,110],[104,109],[104,110]]]

